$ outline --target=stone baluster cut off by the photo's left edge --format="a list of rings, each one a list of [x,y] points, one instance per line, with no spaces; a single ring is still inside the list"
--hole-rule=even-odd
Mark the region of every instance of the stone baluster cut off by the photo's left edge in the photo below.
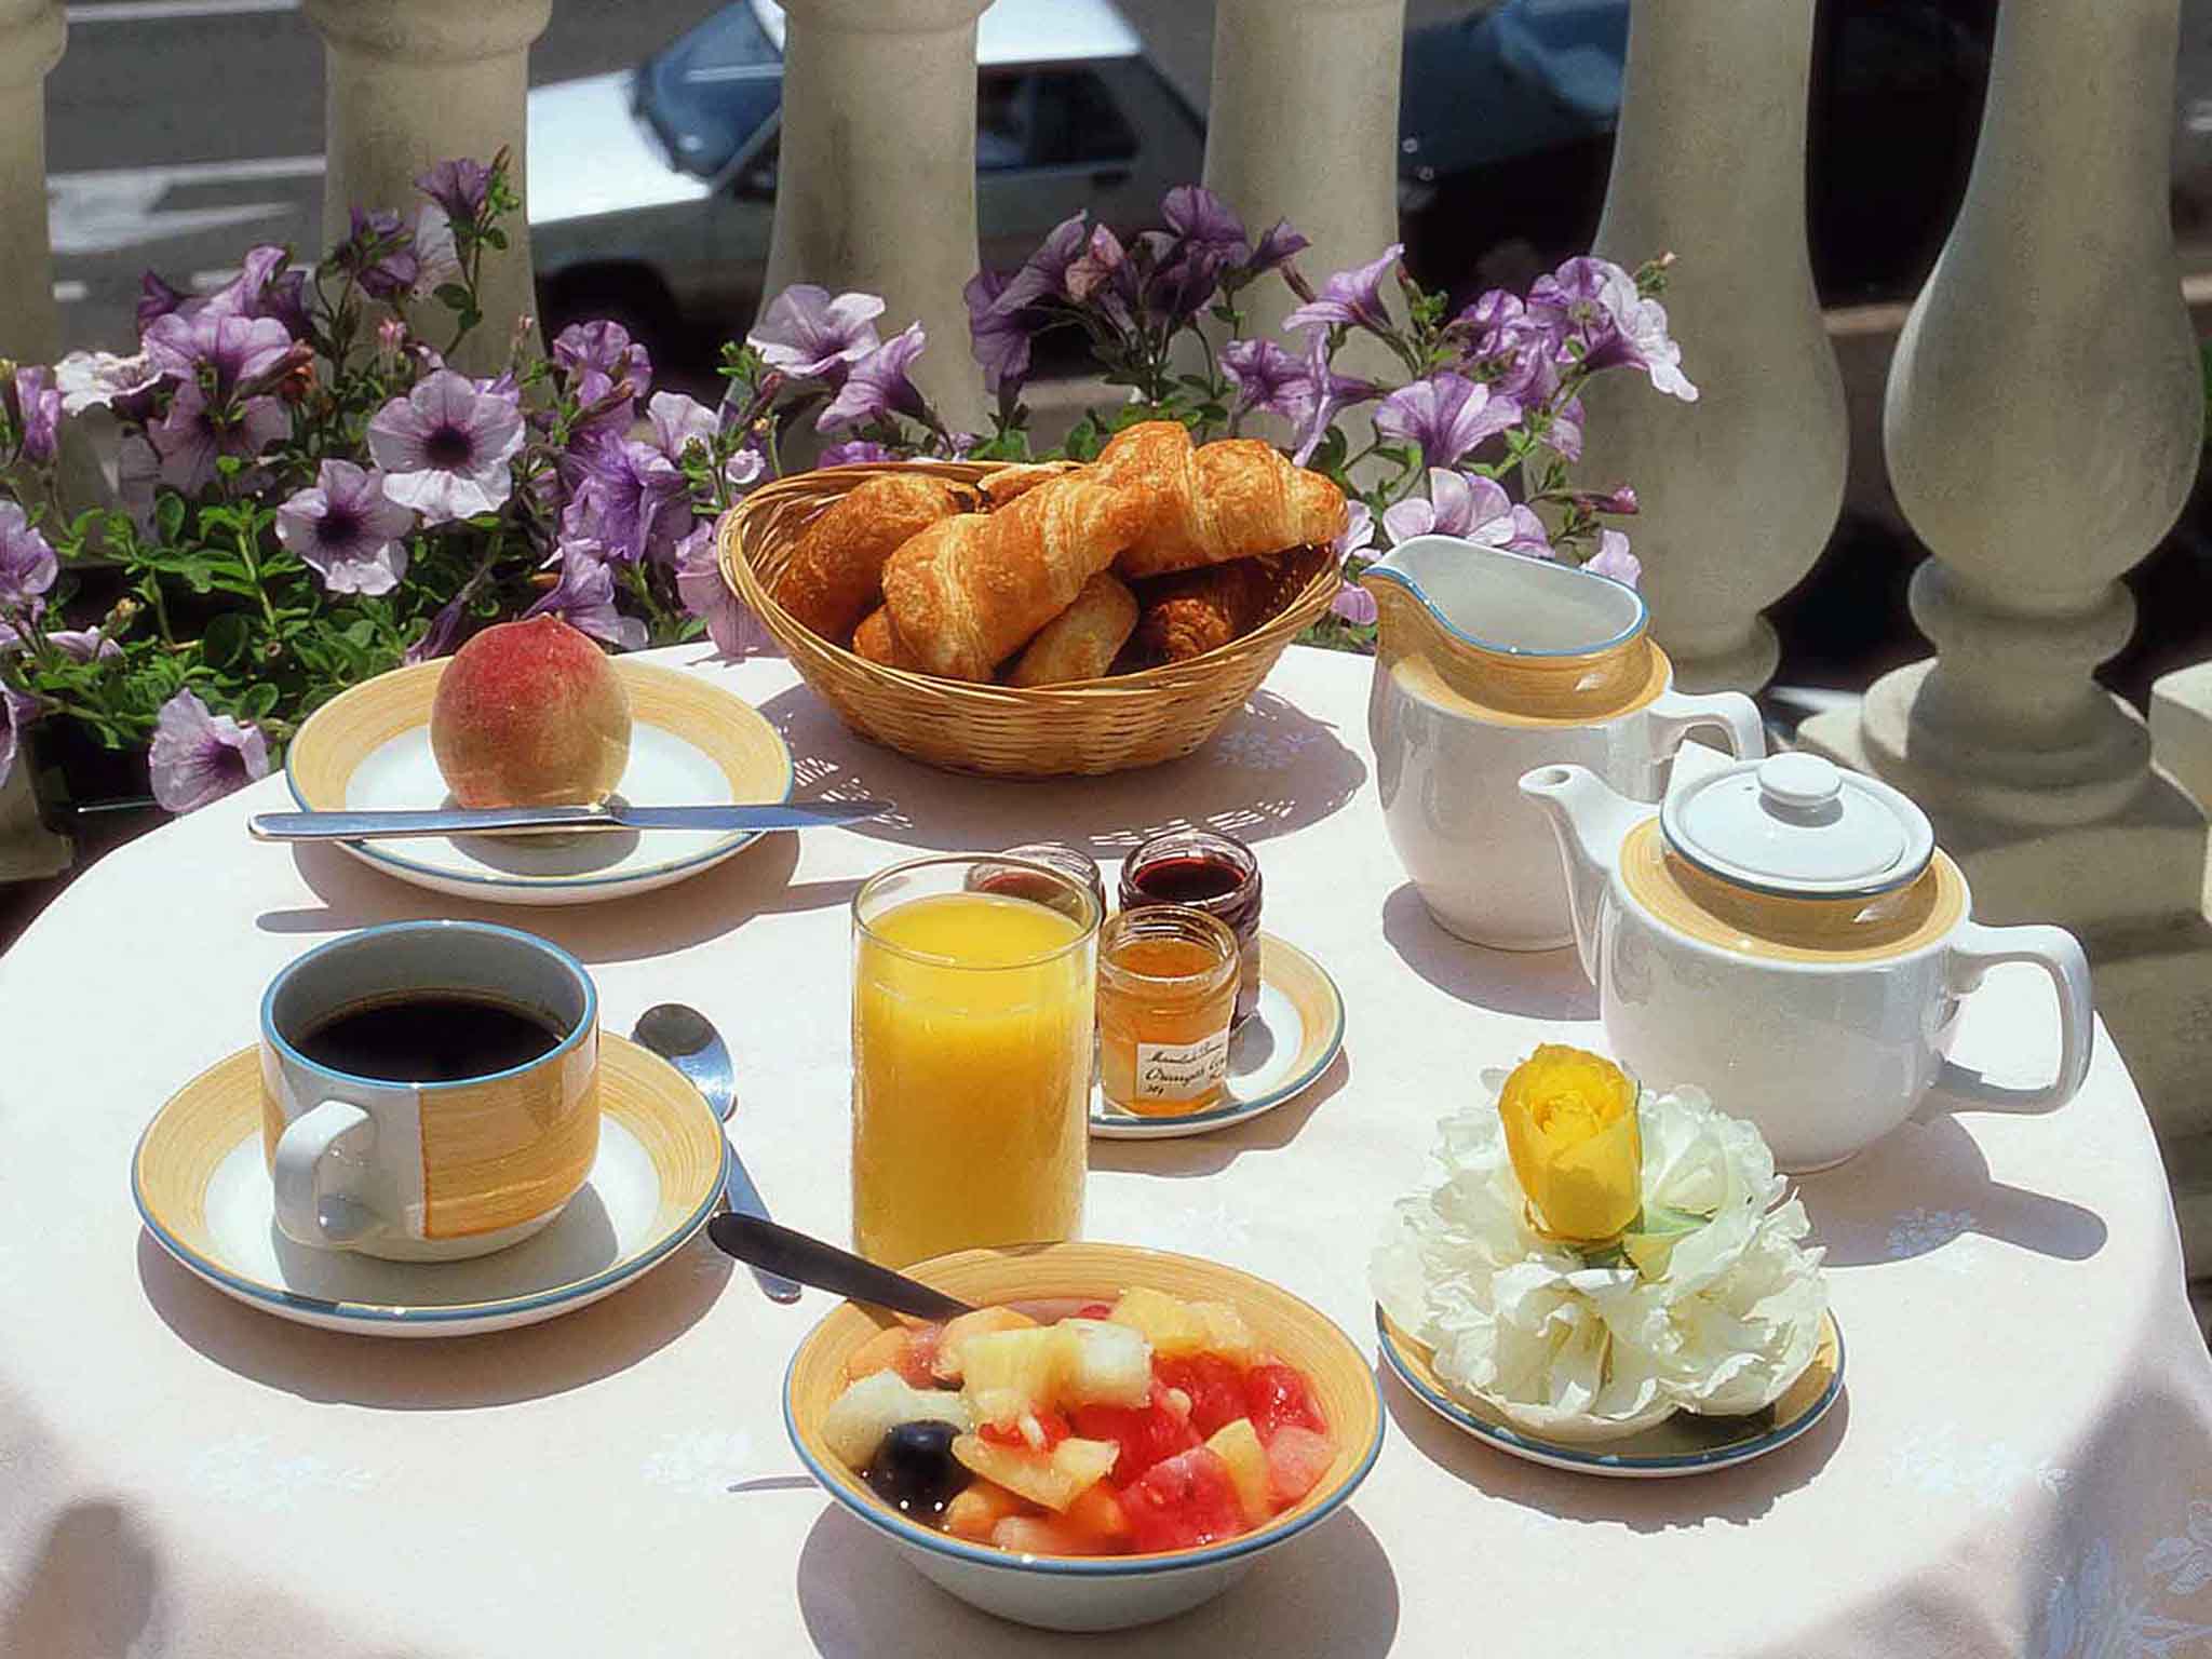
[[[62,319],[46,246],[46,75],[62,62],[62,0],[0,0],[0,356],[53,363]],[[0,883],[69,867],[38,818],[29,754],[0,783]]]

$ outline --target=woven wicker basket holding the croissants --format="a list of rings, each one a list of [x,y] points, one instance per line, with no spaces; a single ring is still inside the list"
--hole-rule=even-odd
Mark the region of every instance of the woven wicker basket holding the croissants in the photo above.
[[[995,471],[975,462],[900,462],[900,469],[960,484]],[[1336,595],[1338,575],[1327,566],[1281,615],[1243,639],[1113,679],[1018,688],[885,668],[799,626],[768,597],[799,533],[845,491],[885,471],[891,467],[825,467],[757,489],[721,520],[721,573],[847,726],[951,772],[1042,779],[1126,772],[1190,754],[1243,708],[1283,648]]]

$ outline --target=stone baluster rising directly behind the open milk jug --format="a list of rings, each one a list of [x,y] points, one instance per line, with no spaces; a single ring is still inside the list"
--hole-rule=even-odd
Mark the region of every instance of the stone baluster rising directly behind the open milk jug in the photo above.
[[[1628,20],[1597,252],[1677,254],[1666,310],[1699,400],[1637,374],[1590,385],[1577,478],[1635,484],[1624,529],[1652,628],[1692,690],[1759,690],[1761,606],[1820,557],[1843,507],[1843,378],[1805,252],[1814,0],[1663,0]]]

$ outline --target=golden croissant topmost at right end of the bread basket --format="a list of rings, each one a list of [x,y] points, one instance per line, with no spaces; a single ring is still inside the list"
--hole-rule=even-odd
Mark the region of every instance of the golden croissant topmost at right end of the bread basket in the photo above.
[[[1256,438],[1192,447],[1179,422],[1146,420],[1117,434],[1093,473],[1157,493],[1157,518],[1117,566],[1133,580],[1325,544],[1345,529],[1343,491]]]

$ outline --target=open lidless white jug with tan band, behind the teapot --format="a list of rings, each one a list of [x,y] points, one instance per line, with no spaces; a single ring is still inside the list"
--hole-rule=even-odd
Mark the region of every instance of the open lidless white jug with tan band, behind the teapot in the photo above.
[[[1657,801],[1690,730],[1765,754],[1750,697],[1674,690],[1644,599],[1621,582],[1413,535],[1360,584],[1383,624],[1367,699],[1383,823],[1447,933],[1506,951],[1573,942],[1551,830],[1513,790],[1531,765],[1579,761]]]

